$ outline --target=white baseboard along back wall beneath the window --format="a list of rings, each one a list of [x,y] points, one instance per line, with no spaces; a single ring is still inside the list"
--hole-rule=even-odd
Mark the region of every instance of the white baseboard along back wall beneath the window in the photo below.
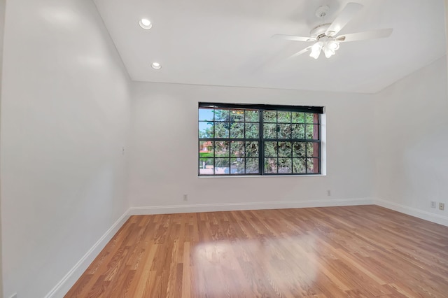
[[[370,198],[132,207],[129,215],[370,205]]]

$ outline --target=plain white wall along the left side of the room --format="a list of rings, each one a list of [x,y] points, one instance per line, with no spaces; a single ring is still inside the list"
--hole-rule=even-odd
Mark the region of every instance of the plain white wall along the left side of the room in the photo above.
[[[127,211],[130,80],[90,0],[8,1],[3,294],[43,297]]]

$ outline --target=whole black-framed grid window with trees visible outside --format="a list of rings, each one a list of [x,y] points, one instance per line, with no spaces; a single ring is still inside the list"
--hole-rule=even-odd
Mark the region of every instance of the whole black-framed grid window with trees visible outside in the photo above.
[[[321,173],[323,107],[199,104],[200,176]]]

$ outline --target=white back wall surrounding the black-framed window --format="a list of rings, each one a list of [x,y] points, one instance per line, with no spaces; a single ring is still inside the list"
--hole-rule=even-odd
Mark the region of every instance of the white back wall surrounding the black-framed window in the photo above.
[[[371,95],[133,85],[128,197],[134,207],[154,207],[134,213],[359,204],[372,196]],[[198,178],[198,101],[326,106],[327,176]]]

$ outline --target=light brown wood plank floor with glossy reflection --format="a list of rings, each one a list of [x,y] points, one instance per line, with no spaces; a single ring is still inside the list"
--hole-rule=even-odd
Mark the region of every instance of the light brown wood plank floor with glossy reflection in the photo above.
[[[132,216],[66,297],[448,297],[448,227],[379,206]]]

